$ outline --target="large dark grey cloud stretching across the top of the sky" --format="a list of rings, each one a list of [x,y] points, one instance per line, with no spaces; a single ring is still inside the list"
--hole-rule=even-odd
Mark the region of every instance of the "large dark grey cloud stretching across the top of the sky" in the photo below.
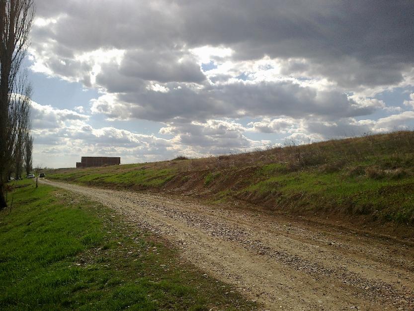
[[[56,40],[54,52],[138,48],[147,55],[132,57],[134,74],[149,80],[162,81],[172,55],[202,45],[231,47],[235,59],[305,58],[308,73],[346,88],[399,83],[414,64],[411,0],[38,2],[38,16],[64,13],[53,29],[34,31]],[[164,81],[201,81],[187,65],[166,67]]]

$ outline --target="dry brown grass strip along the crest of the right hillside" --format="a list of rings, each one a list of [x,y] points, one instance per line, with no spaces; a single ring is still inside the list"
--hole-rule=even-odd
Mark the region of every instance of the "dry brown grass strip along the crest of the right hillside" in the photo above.
[[[182,172],[220,170],[260,166],[275,162],[285,163],[292,171],[312,166],[323,166],[325,172],[340,170],[347,163],[364,161],[367,157],[395,154],[398,161],[414,146],[414,132],[398,131],[388,134],[366,135],[340,140],[329,140],[307,145],[287,145],[261,151],[188,159],[180,163],[168,161],[152,164],[156,167],[175,167]],[[393,160],[393,159],[391,159]]]

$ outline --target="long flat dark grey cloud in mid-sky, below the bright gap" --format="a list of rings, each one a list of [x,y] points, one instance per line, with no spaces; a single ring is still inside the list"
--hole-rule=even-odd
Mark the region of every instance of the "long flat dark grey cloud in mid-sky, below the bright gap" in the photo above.
[[[351,117],[368,115],[377,102],[357,103],[337,91],[316,91],[291,82],[233,83],[193,90],[170,86],[167,93],[145,90],[118,94],[115,100],[98,100],[92,111],[116,118],[171,121],[174,118],[205,121],[209,118],[288,115],[300,117]],[[122,111],[122,112],[120,112]]]

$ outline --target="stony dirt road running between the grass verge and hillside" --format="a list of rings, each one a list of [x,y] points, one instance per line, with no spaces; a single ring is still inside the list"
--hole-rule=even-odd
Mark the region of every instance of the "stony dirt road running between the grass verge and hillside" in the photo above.
[[[266,310],[414,310],[414,244],[264,212],[44,180],[112,207]]]

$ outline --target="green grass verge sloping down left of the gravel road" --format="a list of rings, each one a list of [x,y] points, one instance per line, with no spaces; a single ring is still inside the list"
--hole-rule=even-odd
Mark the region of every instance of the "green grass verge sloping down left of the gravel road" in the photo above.
[[[0,211],[0,310],[256,310],[107,208],[20,181]]]

